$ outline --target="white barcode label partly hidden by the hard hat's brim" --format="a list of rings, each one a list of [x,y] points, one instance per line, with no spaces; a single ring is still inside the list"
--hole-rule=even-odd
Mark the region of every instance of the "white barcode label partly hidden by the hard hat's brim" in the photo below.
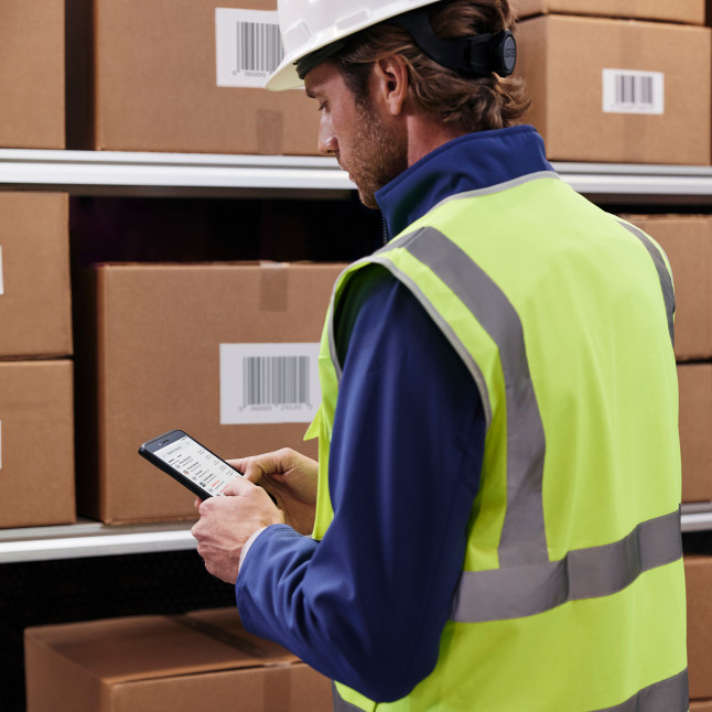
[[[215,9],[217,86],[262,88],[284,56],[277,10]]]

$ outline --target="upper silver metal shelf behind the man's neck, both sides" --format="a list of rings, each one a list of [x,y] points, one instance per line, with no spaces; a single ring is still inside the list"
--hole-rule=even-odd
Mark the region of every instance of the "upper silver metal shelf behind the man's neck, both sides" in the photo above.
[[[565,163],[574,190],[607,203],[712,204],[712,166]],[[0,186],[74,195],[288,195],[354,190],[326,157],[0,149]]]

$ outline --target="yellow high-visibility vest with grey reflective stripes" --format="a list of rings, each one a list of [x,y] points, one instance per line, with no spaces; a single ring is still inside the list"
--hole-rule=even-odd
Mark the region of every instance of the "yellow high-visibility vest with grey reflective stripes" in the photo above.
[[[389,703],[335,683],[335,709],[687,712],[665,253],[547,172],[455,195],[346,269],[310,429],[320,438],[316,539],[333,518],[335,305],[370,263],[408,287],[449,338],[487,432],[434,671]]]

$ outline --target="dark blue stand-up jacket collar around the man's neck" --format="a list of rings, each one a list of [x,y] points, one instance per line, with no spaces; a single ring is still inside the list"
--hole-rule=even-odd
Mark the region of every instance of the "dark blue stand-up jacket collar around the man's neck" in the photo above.
[[[388,228],[398,235],[443,199],[553,171],[543,140],[531,126],[468,133],[444,143],[376,193]]]

